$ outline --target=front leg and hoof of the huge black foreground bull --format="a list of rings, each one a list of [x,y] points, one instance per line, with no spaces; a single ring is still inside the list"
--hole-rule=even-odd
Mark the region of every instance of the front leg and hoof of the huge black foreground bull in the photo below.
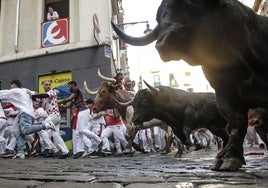
[[[232,96],[233,99],[238,97]],[[243,156],[243,141],[247,132],[247,108],[235,103],[227,97],[217,96],[219,110],[227,119],[230,137],[227,145],[216,156],[211,170],[238,170],[245,159]],[[231,102],[233,104],[231,104]]]

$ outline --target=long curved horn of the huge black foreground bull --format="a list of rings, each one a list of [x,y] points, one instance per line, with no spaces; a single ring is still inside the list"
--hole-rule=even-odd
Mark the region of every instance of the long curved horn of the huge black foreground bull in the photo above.
[[[148,45],[148,44],[154,42],[158,38],[158,30],[159,30],[158,25],[153,29],[153,31],[151,31],[150,33],[148,33],[147,35],[145,35],[143,37],[131,37],[131,36],[125,34],[113,22],[111,22],[111,23],[112,23],[112,27],[113,27],[114,31],[117,33],[119,38],[122,39],[123,41],[125,41],[126,43],[134,45],[134,46],[145,46],[145,45]]]

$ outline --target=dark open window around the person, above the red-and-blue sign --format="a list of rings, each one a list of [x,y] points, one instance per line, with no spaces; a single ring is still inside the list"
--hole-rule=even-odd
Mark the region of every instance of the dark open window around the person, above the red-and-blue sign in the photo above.
[[[69,0],[45,0],[44,21],[47,21],[49,6],[58,12],[60,19],[69,17]]]

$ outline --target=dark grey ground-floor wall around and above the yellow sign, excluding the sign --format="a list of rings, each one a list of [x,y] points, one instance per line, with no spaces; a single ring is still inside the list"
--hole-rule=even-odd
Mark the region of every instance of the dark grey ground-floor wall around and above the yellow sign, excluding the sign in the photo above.
[[[60,72],[70,72],[72,79],[82,87],[86,80],[90,88],[96,88],[101,80],[97,77],[97,69],[102,73],[112,76],[110,46],[101,45],[79,48],[60,53],[45,54],[27,59],[19,59],[0,63],[2,89],[9,89],[13,79],[20,79],[23,87],[38,91],[39,75],[49,75]],[[66,82],[59,79],[58,83]]]

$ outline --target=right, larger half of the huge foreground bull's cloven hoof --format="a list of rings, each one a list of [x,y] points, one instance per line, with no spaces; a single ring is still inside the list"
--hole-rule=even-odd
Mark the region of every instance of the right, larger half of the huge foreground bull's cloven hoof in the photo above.
[[[221,171],[236,171],[242,167],[244,161],[235,157],[223,159],[223,163],[219,170]]]

